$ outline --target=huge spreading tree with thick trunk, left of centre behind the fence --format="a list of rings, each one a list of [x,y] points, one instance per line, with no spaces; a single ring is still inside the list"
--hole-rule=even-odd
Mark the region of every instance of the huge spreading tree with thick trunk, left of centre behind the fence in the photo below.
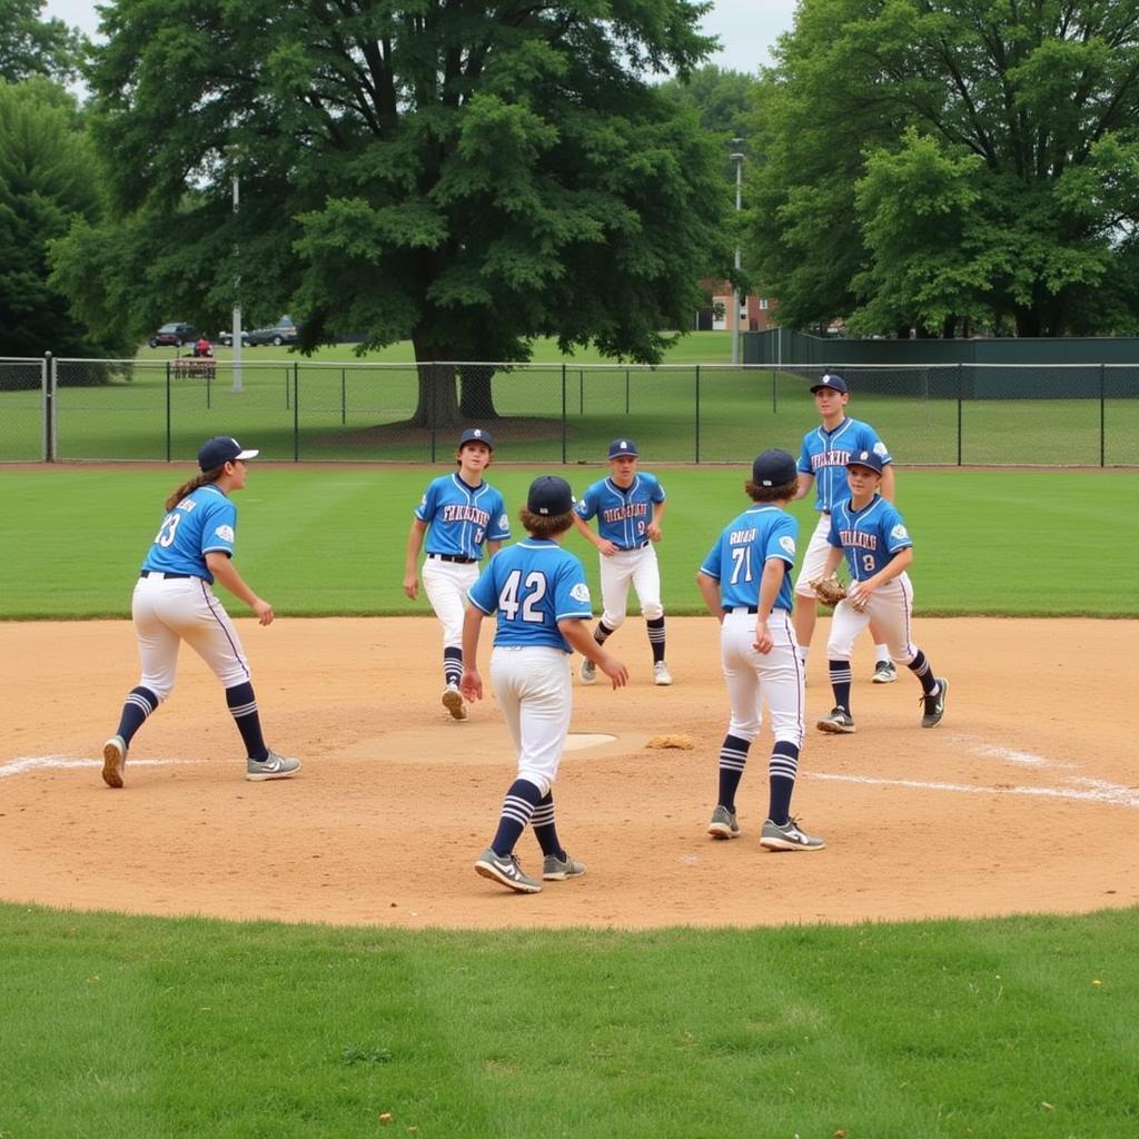
[[[706,7],[117,0],[90,83],[126,260],[205,321],[239,276],[247,311],[303,318],[305,349],[357,333],[518,361],[552,335],[657,360],[727,262],[715,142],[647,81],[707,54]],[[81,232],[60,272],[129,270],[114,241]],[[417,420],[456,418],[453,376],[420,372]],[[461,410],[493,410],[485,383]]]

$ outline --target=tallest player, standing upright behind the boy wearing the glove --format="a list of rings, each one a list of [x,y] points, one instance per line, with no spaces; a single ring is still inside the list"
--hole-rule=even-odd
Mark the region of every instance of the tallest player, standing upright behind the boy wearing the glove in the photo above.
[[[796,499],[806,498],[811,486],[816,486],[814,509],[819,511],[819,522],[811,534],[803,565],[795,579],[795,592],[798,595],[798,607],[795,609],[795,636],[798,639],[798,653],[806,664],[814,636],[814,624],[818,618],[818,604],[810,582],[822,572],[827,557],[827,535],[830,533],[830,515],[835,507],[850,497],[846,486],[846,460],[858,451],[874,451],[882,457],[883,477],[882,497],[894,501],[894,467],[886,444],[878,439],[875,429],[859,419],[846,416],[846,404],[850,402],[850,388],[842,376],[827,372],[812,388],[814,407],[822,419],[803,436],[803,446],[798,456],[798,489]],[[890,658],[890,649],[885,638],[871,623],[870,632],[875,641],[874,682],[888,685],[898,679],[898,670]]]

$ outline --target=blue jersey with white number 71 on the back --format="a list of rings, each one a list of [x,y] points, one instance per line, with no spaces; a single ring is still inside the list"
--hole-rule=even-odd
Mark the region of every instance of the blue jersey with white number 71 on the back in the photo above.
[[[777,506],[756,502],[734,518],[708,550],[700,573],[720,582],[720,604],[726,609],[755,607],[768,558],[787,563],[787,573],[776,597],[776,609],[792,607],[790,567],[795,564],[798,521]]]

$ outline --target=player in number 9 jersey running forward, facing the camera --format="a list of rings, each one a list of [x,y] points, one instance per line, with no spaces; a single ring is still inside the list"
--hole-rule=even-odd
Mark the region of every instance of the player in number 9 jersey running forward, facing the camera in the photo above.
[[[574,511],[577,532],[601,555],[601,618],[593,630],[598,645],[621,628],[625,620],[630,584],[637,590],[649,647],[653,649],[653,680],[671,685],[664,661],[664,606],[661,604],[661,570],[654,542],[661,541],[664,487],[655,475],[638,469],[637,444],[615,439],[609,444],[609,476],[593,483]],[[597,533],[585,525],[597,516]],[[597,669],[587,657],[581,663],[582,683],[597,679]]]

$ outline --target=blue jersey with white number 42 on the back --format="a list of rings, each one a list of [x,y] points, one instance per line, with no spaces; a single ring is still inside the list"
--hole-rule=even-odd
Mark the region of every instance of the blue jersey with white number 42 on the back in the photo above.
[[[525,538],[491,558],[467,591],[483,613],[498,612],[495,645],[571,652],[558,622],[593,615],[581,560],[548,539]]]

